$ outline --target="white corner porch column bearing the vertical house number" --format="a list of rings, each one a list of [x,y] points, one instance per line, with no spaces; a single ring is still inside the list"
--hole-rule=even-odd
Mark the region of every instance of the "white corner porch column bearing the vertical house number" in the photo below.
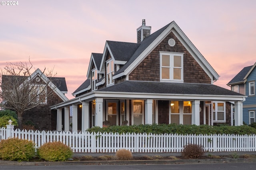
[[[103,98],[96,98],[96,114],[95,114],[95,125],[103,126]]]

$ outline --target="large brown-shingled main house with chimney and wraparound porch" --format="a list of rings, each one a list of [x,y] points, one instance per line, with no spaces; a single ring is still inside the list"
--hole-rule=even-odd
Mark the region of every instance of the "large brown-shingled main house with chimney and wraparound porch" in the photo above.
[[[70,106],[73,131],[152,123],[232,125],[233,106],[235,125],[242,125],[245,96],[215,86],[218,78],[174,21],[151,33],[142,20],[136,43],[106,41],[103,53],[92,53],[75,98],[51,109],[60,117],[58,131],[68,131]]]

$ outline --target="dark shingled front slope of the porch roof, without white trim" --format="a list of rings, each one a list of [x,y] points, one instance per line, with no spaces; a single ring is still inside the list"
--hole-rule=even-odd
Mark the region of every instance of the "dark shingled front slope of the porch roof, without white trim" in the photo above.
[[[244,96],[214,84],[124,81],[98,90],[99,92],[129,92],[152,94],[194,94]]]

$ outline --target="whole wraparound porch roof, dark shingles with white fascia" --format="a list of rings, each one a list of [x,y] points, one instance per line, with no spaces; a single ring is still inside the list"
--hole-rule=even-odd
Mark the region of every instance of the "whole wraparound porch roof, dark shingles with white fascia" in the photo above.
[[[213,84],[124,81],[51,106],[57,109],[95,98],[244,101],[246,96]]]

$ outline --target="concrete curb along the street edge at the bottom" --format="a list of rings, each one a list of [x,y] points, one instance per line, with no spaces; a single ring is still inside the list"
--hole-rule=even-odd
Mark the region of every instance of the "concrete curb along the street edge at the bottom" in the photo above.
[[[2,165],[102,165],[102,164],[194,164],[194,163],[234,163],[234,162],[256,162],[256,159],[182,159],[182,160],[106,160],[106,161],[64,161],[64,162],[17,162],[0,160]]]

